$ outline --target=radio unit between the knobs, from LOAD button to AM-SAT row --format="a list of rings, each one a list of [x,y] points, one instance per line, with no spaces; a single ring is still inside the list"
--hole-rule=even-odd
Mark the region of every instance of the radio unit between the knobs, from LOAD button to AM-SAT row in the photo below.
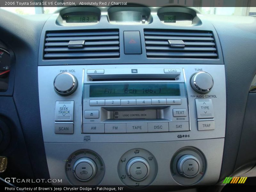
[[[176,131],[189,131],[182,69],[164,69],[166,73],[158,75],[155,70],[145,69],[144,74],[138,69],[111,69],[111,74],[106,69],[95,70],[96,74],[87,70],[82,132],[169,132],[175,131],[174,122],[183,122]]]

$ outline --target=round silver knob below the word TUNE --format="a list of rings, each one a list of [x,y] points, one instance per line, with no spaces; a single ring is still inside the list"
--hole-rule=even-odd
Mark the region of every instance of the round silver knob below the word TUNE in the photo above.
[[[190,84],[196,92],[206,94],[213,87],[213,78],[209,73],[201,71],[191,77]]]

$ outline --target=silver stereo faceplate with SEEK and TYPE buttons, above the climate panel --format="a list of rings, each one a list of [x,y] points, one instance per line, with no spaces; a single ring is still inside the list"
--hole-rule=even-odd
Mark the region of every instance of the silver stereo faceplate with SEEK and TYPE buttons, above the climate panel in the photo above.
[[[207,94],[198,94],[190,86],[190,77],[198,71],[209,73],[214,80]],[[70,73],[77,79],[76,91],[68,96],[58,95],[53,88],[54,78],[62,72]],[[38,79],[44,142],[156,142],[225,137],[223,65],[39,66]],[[89,95],[90,85],[134,83],[179,84],[180,95]],[[127,100],[132,104],[125,105]],[[148,118],[138,117],[141,114]],[[128,118],[128,115],[137,117]],[[182,126],[186,128],[182,129]],[[134,127],[140,128],[138,132],[134,131]]]

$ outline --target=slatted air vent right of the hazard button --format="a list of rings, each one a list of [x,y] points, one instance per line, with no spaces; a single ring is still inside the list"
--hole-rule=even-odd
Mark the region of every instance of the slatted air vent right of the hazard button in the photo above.
[[[208,59],[218,57],[214,37],[210,31],[145,29],[144,36],[147,57]]]

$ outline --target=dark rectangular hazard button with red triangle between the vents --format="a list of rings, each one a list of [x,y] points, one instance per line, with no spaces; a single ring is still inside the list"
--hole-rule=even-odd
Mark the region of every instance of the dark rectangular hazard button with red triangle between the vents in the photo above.
[[[141,54],[140,31],[124,31],[124,54]]]

